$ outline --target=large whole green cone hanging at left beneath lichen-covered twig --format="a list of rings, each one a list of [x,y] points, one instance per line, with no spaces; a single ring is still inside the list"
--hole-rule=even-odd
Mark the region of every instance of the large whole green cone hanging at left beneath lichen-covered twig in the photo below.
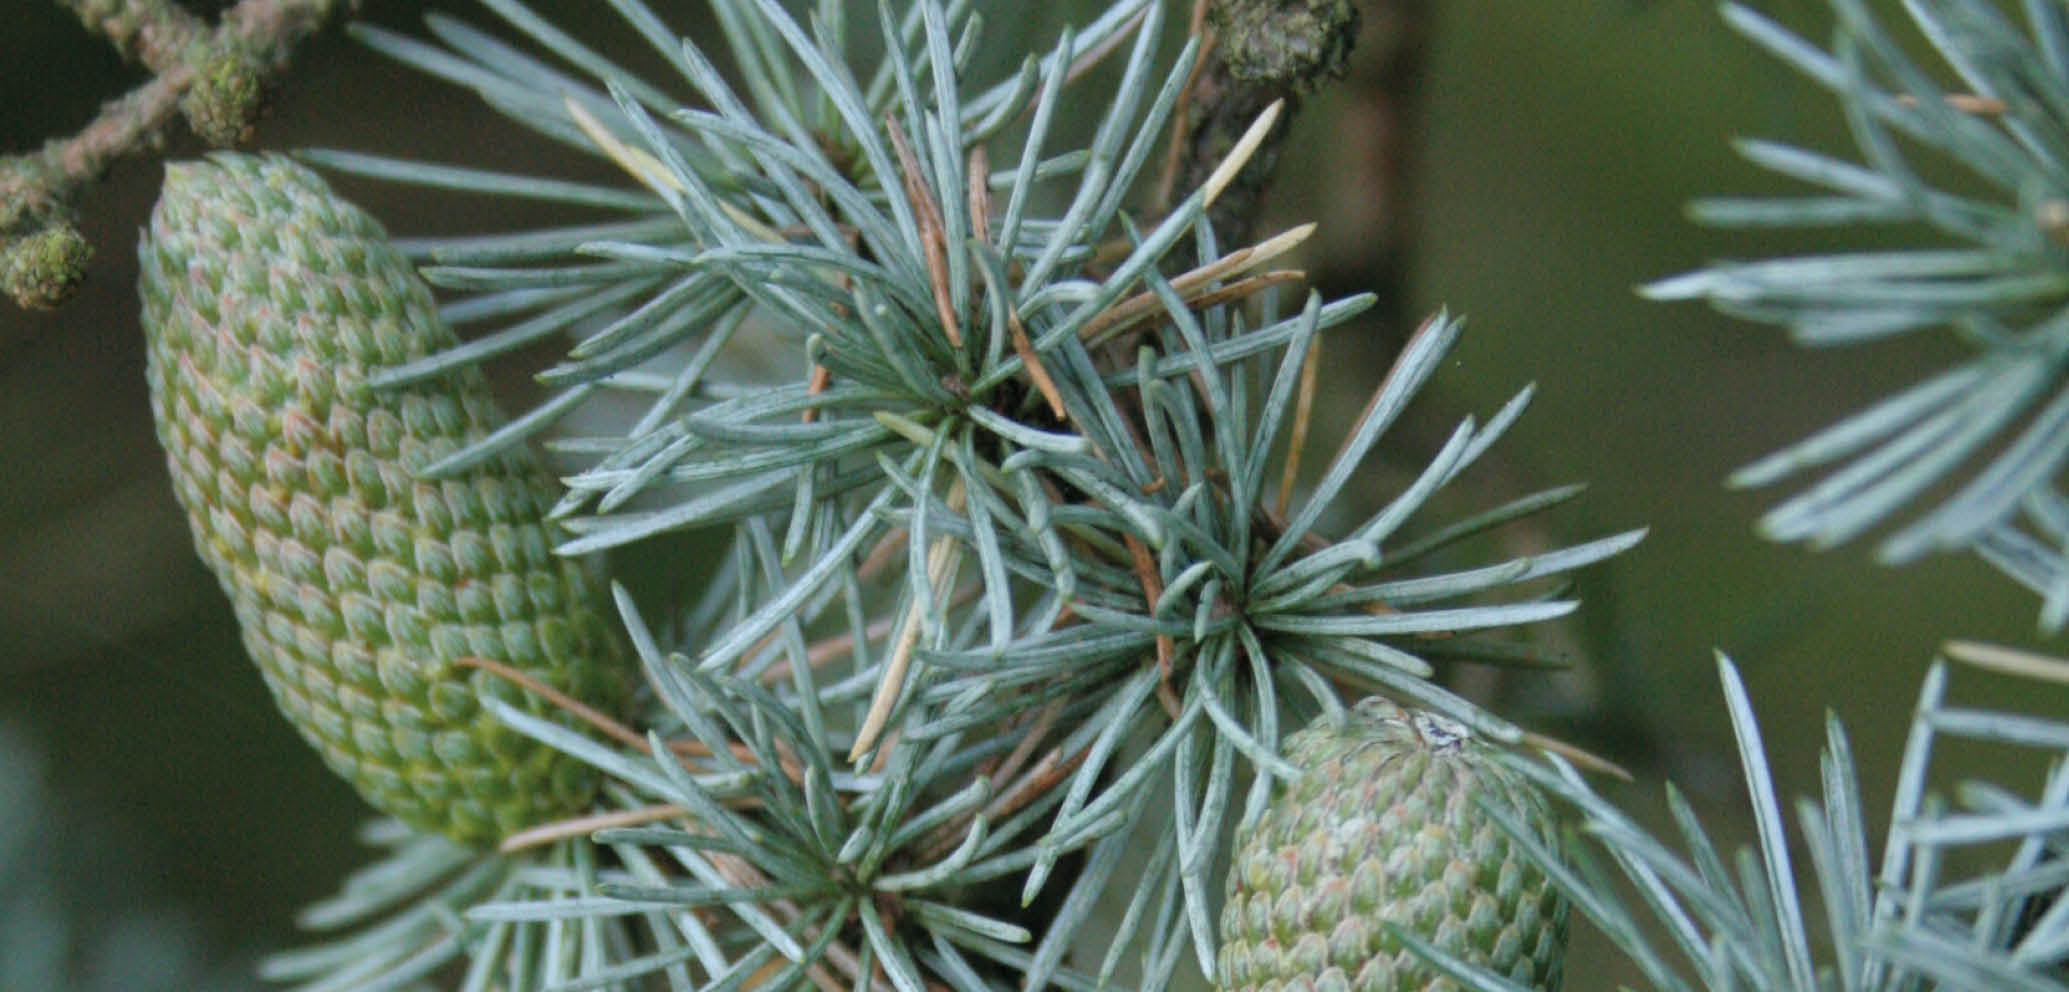
[[[503,422],[480,371],[366,385],[455,344],[381,226],[286,157],[221,153],[166,166],[139,253],[174,491],[281,712],[412,826],[488,845],[577,812],[592,770],[476,694],[552,706],[455,661],[617,710],[625,654],[552,555],[530,451],[418,474]]]

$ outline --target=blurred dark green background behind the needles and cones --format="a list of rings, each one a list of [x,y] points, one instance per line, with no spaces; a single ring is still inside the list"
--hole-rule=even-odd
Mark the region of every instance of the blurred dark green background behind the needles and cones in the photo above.
[[[70,133],[139,83],[56,4],[4,6],[0,151]],[[534,6],[569,27],[608,21],[583,0]],[[987,56],[1012,56],[1020,31],[1047,43],[1070,6],[1082,4],[1012,4],[993,19]],[[1575,675],[1537,685],[1465,677],[1498,690],[1508,712],[1632,766],[1641,783],[1612,795],[1647,822],[1659,820],[1657,781],[1670,777],[1736,841],[1748,833],[1717,698],[1721,648],[1746,675],[1786,795],[1815,791],[1831,706],[1854,731],[1868,808],[1885,808],[1935,646],[2034,644],[2038,603],[1974,559],[1891,572],[1866,547],[1767,545],[1752,522],[1779,493],[1734,493],[1721,480],[1957,352],[1930,335],[1802,352],[1775,329],[1632,292],[1707,259],[1815,246],[1705,232],[1682,207],[1705,193],[1779,188],[1732,155],[1730,137],[1848,149],[1829,99],[1692,0],[1430,6],[1403,309],[1450,307],[1469,315],[1469,331],[1419,412],[1428,425],[1488,414],[1535,381],[1533,410],[1498,464],[1477,470],[1483,493],[1461,505],[1587,480],[1591,493],[1548,518],[1543,536],[1651,526],[1635,553],[1583,578],[1587,605],[1560,632],[1579,646]],[[424,8],[492,21],[459,0],[368,0],[364,17],[416,31]],[[1767,8],[1823,35],[1812,0]],[[693,29],[695,17],[679,25]],[[1322,222],[1306,263],[1330,292],[1376,278],[1384,240],[1376,50],[1359,52],[1359,72],[1297,118],[1270,209],[1275,224]],[[259,145],[602,176],[335,29],[300,52]],[[166,153],[197,147],[176,135]],[[17,833],[31,837],[27,857],[48,862],[50,891],[77,915],[72,938],[149,909],[176,922],[197,967],[217,975],[209,982],[234,982],[226,975],[244,959],[294,942],[296,907],[358,862],[352,833],[366,810],[273,714],[172,501],[134,302],[134,238],[159,174],[155,155],[134,157],[89,191],[81,228],[99,257],[74,302],[33,315],[0,307],[0,731],[19,741],[8,752],[27,768],[17,781],[35,783],[0,793],[0,824],[35,826]],[[492,203],[343,186],[399,234],[511,224]],[[1361,406],[1388,333],[1399,329],[1347,329],[1330,342],[1330,412]],[[1320,437],[1326,451],[1335,433]],[[1984,677],[1957,692],[2065,702],[2015,700]],[[4,855],[0,845],[0,891]],[[1612,978],[1581,965],[1568,973],[1575,988]],[[166,978],[161,988],[194,986]]]

